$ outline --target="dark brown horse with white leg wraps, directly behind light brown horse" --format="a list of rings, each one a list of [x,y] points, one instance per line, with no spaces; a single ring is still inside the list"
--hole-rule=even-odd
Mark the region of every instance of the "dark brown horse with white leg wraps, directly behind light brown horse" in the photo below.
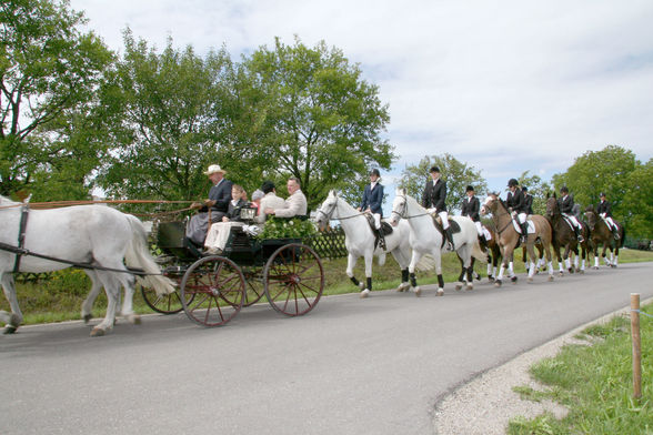
[[[553,239],[551,244],[553,245],[553,252],[557,259],[557,265],[560,267],[560,275],[563,274],[562,260],[565,262],[566,270],[569,273],[573,273],[574,269],[571,265],[570,253],[575,254],[574,265],[575,271],[584,273],[585,271],[585,259],[587,257],[587,239],[589,231],[585,225],[582,224],[581,235],[583,236],[583,243],[579,243],[576,233],[572,229],[572,224],[567,222],[562,213],[560,212],[560,204],[557,203],[557,196],[555,193],[553,196],[546,195],[546,219],[551,223],[553,229]],[[579,269],[579,245],[581,246],[581,257],[583,259],[582,267]],[[560,249],[564,247],[562,256],[560,255]]]

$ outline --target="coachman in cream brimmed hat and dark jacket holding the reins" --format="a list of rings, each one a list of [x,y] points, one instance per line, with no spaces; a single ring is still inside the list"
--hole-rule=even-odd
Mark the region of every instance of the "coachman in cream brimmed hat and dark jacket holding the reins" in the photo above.
[[[207,231],[209,230],[209,210],[211,211],[211,222],[220,222],[227,214],[229,202],[231,201],[232,182],[224,179],[224,170],[219,164],[212,164],[204,172],[213,186],[209,191],[209,199],[203,203],[195,202],[191,208],[199,209],[199,213],[191,218],[185,229],[185,236],[198,245],[204,244]]]

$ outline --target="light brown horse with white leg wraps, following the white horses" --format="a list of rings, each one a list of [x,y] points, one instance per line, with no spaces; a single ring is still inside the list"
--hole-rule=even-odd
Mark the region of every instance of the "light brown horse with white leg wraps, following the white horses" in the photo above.
[[[481,214],[492,213],[492,222],[496,226],[496,240],[499,242],[499,246],[501,247],[501,254],[503,256],[503,261],[501,263],[501,270],[499,271],[499,276],[496,276],[496,281],[494,285],[501,286],[501,282],[503,280],[503,272],[508,267],[509,261],[512,260],[513,252],[519,245],[520,241],[520,233],[515,230],[513,225],[512,215],[508,211],[505,203],[499,198],[496,193],[491,193],[485,203],[481,208]],[[529,270],[529,281],[533,281],[533,275],[535,274],[535,262],[538,261],[535,256],[534,244],[535,240],[540,240],[542,245],[544,246],[544,252],[546,254],[546,262],[549,264],[549,281],[553,280],[553,266],[551,264],[551,224],[546,220],[546,218],[541,216],[539,214],[533,214],[530,216],[530,221],[533,223],[535,232],[529,233],[526,237],[526,250],[529,252],[530,259],[530,266]],[[509,274],[511,275],[511,280],[513,282],[516,281],[516,276],[514,272],[509,269]]]

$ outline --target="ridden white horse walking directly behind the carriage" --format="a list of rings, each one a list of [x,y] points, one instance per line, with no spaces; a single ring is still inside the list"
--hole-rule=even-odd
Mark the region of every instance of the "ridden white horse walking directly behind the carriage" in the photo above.
[[[379,265],[385,263],[385,254],[390,252],[399,266],[401,267],[401,284],[396,291],[403,291],[409,287],[408,283],[408,264],[411,260],[411,246],[409,244],[408,225],[401,225],[394,229],[391,234],[385,235],[385,251],[380,246],[374,246],[375,234],[370,227],[365,213],[348,204],[342,198],[338,196],[335,191],[329,192],[329,195],[318,210],[317,221],[320,229],[324,229],[330,220],[340,220],[344,230],[344,245],[349,252],[346,263],[346,275],[361,289],[361,297],[366,297],[372,291],[372,262],[374,256],[379,259]],[[359,282],[354,276],[353,269],[360,257],[365,259],[365,283]]]

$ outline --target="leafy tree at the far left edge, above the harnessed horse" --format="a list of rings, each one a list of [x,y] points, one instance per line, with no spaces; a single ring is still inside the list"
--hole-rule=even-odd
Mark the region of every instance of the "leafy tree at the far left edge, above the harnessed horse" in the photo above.
[[[104,151],[96,91],[113,54],[84,22],[67,0],[0,4],[0,194],[88,195]]]

